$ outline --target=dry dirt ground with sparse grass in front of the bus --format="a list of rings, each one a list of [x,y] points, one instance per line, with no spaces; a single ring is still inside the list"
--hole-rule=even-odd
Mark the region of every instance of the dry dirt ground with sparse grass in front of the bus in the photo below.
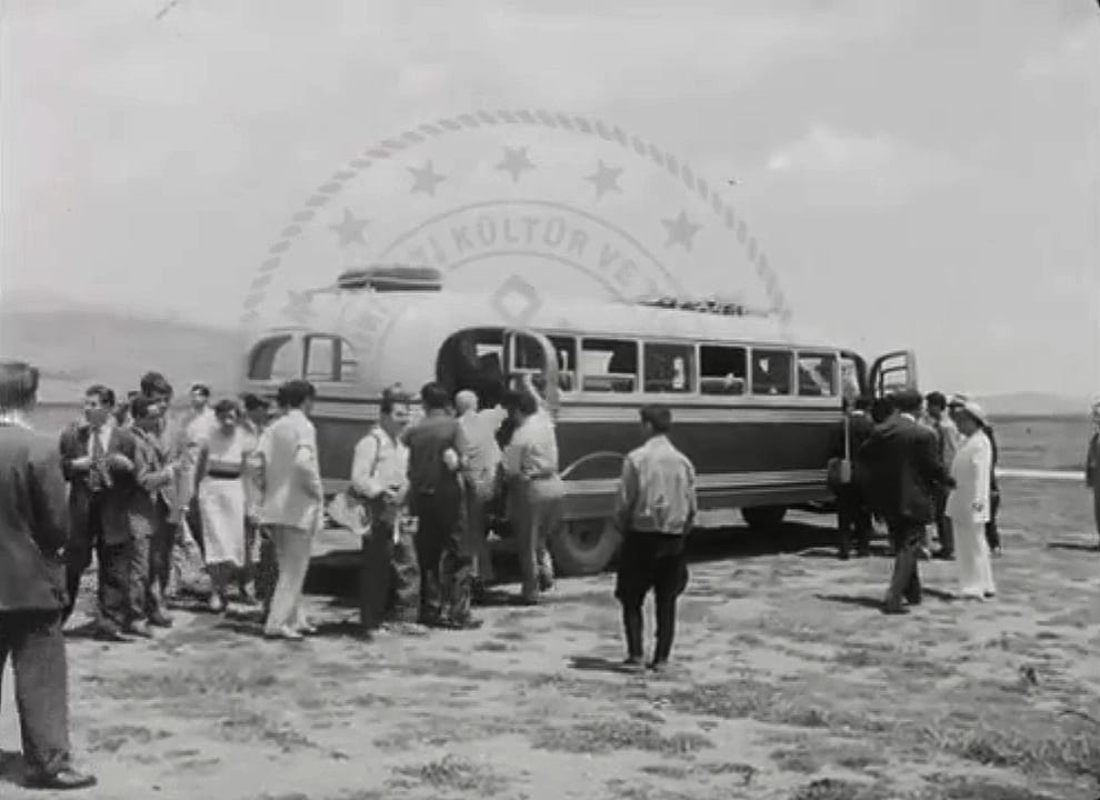
[[[881,548],[837,560],[828,520],[700,537],[662,677],[614,668],[609,574],[560,581],[539,608],[484,608],[474,632],[361,643],[353,610],[313,596],[322,631],[303,643],[262,639],[244,609],[177,611],[152,642],[73,637],[77,757],[100,779],[80,797],[1093,800],[1086,498],[1007,493],[999,597],[952,601],[952,566],[924,563],[928,598],[900,618],[877,609]],[[4,683],[0,797],[41,797],[16,783]]]

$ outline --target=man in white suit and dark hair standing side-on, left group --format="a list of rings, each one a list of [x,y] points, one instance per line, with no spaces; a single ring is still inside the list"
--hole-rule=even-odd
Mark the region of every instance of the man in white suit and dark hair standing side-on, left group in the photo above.
[[[268,527],[279,562],[279,580],[263,632],[301,639],[316,630],[301,608],[313,534],[323,523],[324,492],[317,459],[317,430],[307,414],[316,392],[309,381],[292,380],[279,388],[286,409],[260,440],[263,490],[260,523]]]

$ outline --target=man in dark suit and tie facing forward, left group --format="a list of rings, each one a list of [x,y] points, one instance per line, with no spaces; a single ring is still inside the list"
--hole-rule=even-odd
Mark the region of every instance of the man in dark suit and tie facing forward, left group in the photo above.
[[[97,638],[124,641],[132,540],[129,504],[136,491],[133,434],[114,424],[114,392],[93,386],[84,393],[84,422],[61,433],[61,471],[69,481],[70,536],[66,547],[72,613],[80,579],[99,562]]]

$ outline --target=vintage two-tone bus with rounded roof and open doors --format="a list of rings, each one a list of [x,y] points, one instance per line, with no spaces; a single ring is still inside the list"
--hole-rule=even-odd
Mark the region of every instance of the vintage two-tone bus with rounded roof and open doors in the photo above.
[[[242,389],[270,397],[290,378],[317,387],[326,490],[347,486],[384,387],[416,391],[434,379],[491,403],[531,374],[557,421],[566,500],[551,549],[562,574],[601,571],[614,557],[609,514],[622,458],[640,443],[642,406],[672,409],[671,438],[696,464],[702,510],[740,509],[750,526],[774,527],[787,509],[831,498],[842,382],[870,394],[916,386],[909,351],[868,364],[836,342],[717,303],[541,298],[517,328],[488,297],[400,268],[347,272],[317,300],[313,318],[326,324],[271,328],[250,343]],[[359,304],[370,304],[368,317],[357,317]],[[369,354],[356,352],[364,319],[378,328]]]

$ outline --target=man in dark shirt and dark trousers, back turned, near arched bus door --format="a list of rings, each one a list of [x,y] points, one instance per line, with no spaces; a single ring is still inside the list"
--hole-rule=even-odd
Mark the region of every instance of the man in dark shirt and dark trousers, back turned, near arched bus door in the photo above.
[[[441,384],[420,391],[423,418],[406,430],[409,446],[409,510],[417,519],[420,562],[420,621],[438,628],[473,629],[470,614],[470,554],[459,453],[466,449],[458,420],[448,413]]]

